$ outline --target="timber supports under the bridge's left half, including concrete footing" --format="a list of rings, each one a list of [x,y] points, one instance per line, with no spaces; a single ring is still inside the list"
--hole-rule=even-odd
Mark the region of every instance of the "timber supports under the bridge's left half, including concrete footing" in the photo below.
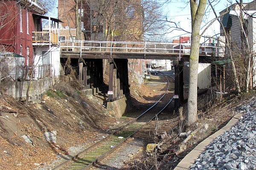
[[[63,65],[66,61],[67,58],[61,58]],[[102,93],[108,98],[109,114],[120,117],[131,110],[128,59],[105,59],[103,61],[103,59],[71,58],[71,65],[77,68],[78,80],[84,94]],[[105,76],[104,67],[109,68],[108,75]]]

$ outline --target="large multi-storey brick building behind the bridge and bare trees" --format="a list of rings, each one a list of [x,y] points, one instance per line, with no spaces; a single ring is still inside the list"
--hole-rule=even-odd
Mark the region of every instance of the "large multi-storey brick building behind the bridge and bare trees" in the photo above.
[[[64,21],[60,29],[61,40],[143,41],[141,0],[102,2],[80,0],[76,4],[75,1],[58,0],[58,18]],[[132,44],[129,47],[133,47]],[[129,59],[128,67],[142,79],[144,60]]]

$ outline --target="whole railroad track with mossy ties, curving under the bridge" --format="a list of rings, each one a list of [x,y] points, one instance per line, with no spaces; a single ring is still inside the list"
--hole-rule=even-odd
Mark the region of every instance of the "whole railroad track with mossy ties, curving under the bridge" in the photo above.
[[[93,167],[95,164],[99,163],[99,161],[111,154],[132,137],[134,133],[145,127],[145,125],[161,113],[173,100],[173,97],[172,99],[169,99],[166,95],[170,86],[169,79],[173,78],[163,73],[160,74],[166,78],[167,88],[163,96],[154,105],[116,132],[108,135],[101,141],[77,154],[73,158],[68,159],[52,170],[89,170],[90,167]]]

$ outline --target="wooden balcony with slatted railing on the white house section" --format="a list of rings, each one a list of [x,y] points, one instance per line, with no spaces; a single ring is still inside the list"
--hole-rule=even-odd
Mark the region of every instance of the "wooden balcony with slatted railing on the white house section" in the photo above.
[[[32,42],[38,45],[44,43],[51,43],[53,45],[59,45],[57,31],[33,31]]]

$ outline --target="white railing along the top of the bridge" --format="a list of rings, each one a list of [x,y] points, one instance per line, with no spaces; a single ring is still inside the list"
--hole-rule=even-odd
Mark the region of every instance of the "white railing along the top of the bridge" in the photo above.
[[[179,53],[190,54],[190,43],[163,42],[117,42],[61,40],[61,51],[108,51],[134,53]],[[213,43],[200,45],[202,55],[216,55],[218,47]]]

